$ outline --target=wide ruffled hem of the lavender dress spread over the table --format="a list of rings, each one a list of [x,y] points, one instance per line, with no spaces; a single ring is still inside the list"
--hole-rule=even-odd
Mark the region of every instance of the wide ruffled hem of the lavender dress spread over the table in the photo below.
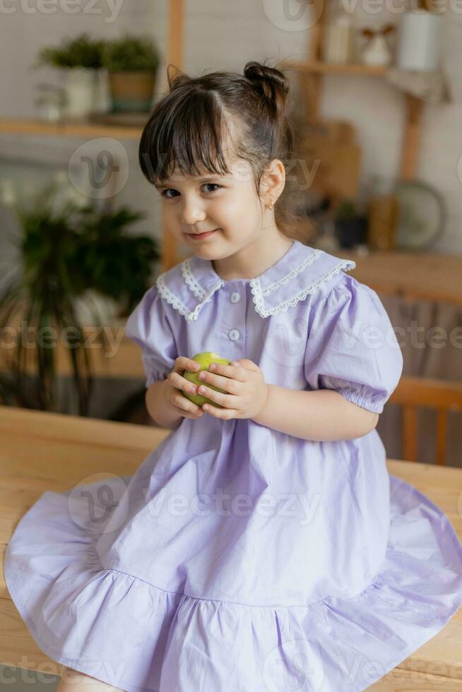
[[[18,523],[6,585],[47,656],[126,692],[360,692],[462,603],[462,546],[449,519],[393,475],[390,489],[384,563],[353,597],[263,607],[162,590],[102,568],[95,534],[53,491]]]

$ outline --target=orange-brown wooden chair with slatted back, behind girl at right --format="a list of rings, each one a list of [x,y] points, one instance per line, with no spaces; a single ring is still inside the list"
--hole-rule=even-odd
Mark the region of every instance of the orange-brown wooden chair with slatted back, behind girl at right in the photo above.
[[[446,429],[449,411],[462,411],[462,382],[402,376],[389,402],[403,407],[403,453],[408,461],[417,460],[417,408],[436,409],[436,462],[446,464]]]

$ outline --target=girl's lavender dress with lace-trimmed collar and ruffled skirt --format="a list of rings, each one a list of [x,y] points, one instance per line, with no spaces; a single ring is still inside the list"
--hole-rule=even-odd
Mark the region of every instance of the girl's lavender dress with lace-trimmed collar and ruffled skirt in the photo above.
[[[354,266],[300,241],[251,280],[186,259],[126,325],[147,386],[214,351],[380,413],[403,358]],[[203,414],[131,477],[42,494],[5,577],[49,657],[128,692],[358,692],[456,612],[462,546],[376,429],[305,441]]]

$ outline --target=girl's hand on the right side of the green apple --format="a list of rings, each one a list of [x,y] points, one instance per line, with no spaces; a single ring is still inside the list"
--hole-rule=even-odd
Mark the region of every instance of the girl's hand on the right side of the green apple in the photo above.
[[[247,358],[232,361],[231,365],[211,363],[208,371],[201,372],[199,379],[204,382],[199,387],[199,394],[223,406],[218,408],[205,403],[203,410],[223,420],[253,418],[261,412],[268,398],[269,389],[263,372]],[[220,387],[225,393],[207,387],[207,383]]]

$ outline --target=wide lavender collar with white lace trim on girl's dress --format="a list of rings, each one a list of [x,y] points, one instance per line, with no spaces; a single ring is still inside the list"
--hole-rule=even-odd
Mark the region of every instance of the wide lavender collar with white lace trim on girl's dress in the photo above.
[[[268,317],[297,305],[341,270],[349,271],[355,266],[352,260],[294,240],[283,257],[253,279],[224,280],[213,269],[211,260],[194,255],[160,274],[155,283],[162,299],[184,315],[186,321],[199,317],[215,291],[244,284],[250,286],[256,312]]]

